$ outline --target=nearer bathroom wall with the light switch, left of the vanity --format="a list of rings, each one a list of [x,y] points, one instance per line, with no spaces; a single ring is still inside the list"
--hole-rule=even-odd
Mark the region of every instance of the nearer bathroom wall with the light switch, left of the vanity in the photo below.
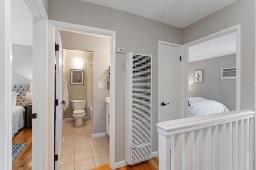
[[[110,38],[60,31],[62,45],[65,49],[93,51],[93,134],[106,132],[105,96],[110,96],[107,82],[110,66]],[[87,78],[85,77],[84,80]],[[103,88],[97,88],[102,82]],[[74,85],[72,85],[74,86]],[[76,85],[78,86],[78,85]],[[88,113],[87,113],[88,114]]]

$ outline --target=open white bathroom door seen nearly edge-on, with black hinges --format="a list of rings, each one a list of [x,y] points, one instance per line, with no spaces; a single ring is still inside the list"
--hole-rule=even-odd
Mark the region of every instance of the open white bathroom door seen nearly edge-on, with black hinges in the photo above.
[[[59,45],[59,50],[56,51],[56,82],[55,82],[55,155],[58,159],[55,162],[55,170],[58,170],[60,164],[61,140],[62,140],[62,76],[63,76],[63,56],[60,31],[56,31],[56,44]],[[57,104],[58,103],[58,104]]]

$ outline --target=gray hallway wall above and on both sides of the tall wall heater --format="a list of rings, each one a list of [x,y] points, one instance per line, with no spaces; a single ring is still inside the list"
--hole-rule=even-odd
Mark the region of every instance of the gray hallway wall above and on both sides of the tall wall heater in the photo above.
[[[50,20],[116,31],[116,47],[152,57],[152,151],[157,145],[158,40],[181,43],[180,28],[80,0],[50,0]],[[124,160],[125,54],[116,53],[116,162]]]

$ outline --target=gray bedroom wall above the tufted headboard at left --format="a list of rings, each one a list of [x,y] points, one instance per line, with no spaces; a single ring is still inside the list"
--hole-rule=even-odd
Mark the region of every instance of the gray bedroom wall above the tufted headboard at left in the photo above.
[[[32,46],[12,45],[12,83],[30,84],[32,82]]]

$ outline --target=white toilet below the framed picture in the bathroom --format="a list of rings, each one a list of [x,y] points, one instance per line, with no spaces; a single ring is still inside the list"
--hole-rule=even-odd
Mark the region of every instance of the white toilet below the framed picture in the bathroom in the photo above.
[[[83,117],[85,116],[86,100],[71,100],[71,107],[73,110],[72,116],[75,118],[75,125],[83,125]]]

